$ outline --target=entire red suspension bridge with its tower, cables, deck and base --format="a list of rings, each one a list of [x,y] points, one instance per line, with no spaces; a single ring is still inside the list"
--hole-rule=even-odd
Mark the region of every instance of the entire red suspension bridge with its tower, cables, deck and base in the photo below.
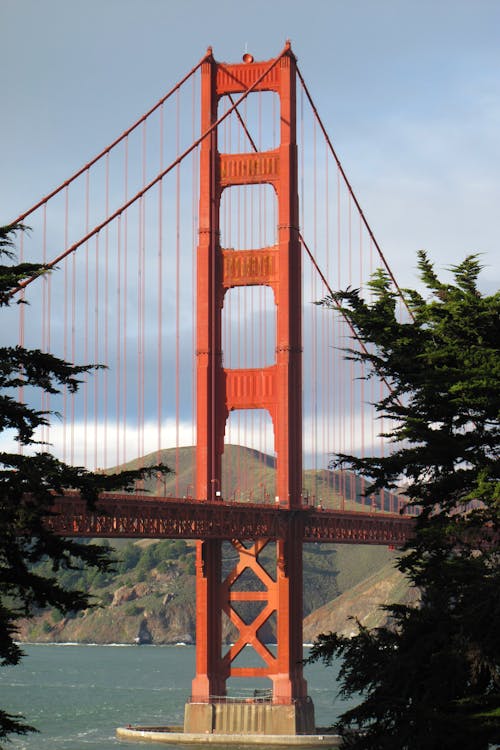
[[[50,272],[19,285],[30,307],[7,311],[10,330],[23,346],[106,366],[77,394],[42,395],[39,408],[61,421],[39,439],[95,469],[155,464],[166,447],[175,456],[169,492],[159,478],[149,494],[138,485],[89,511],[69,490],[48,522],[67,536],[198,540],[185,731],[234,733],[221,708],[226,682],[261,677],[276,711],[250,702],[238,721],[254,733],[310,734],[302,544],[401,545],[412,521],[401,496],[366,498],[363,479],[328,469],[335,453],[389,449],[373,406],[388,385],[345,359],[346,346],[362,343],[340,312],[315,303],[346,286],[368,295],[379,266],[399,289],[290,44],[237,64],[209,48],[16,221],[31,227],[20,261]],[[19,399],[33,395],[20,389]],[[181,471],[186,445],[196,457]],[[225,577],[223,540],[237,560]],[[259,560],[265,548],[272,574]],[[239,586],[244,571],[251,590]],[[253,619],[239,614],[241,602],[259,610]],[[239,634],[226,651],[223,617]],[[276,653],[259,636],[271,617]],[[245,647],[261,666],[239,664]]]

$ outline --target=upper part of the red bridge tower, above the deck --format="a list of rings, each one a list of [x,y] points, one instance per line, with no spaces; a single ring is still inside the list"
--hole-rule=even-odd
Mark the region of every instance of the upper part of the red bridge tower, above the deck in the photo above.
[[[197,256],[197,491],[215,499],[221,488],[221,455],[228,414],[264,408],[271,415],[276,449],[276,495],[300,504],[302,488],[301,260],[296,145],[295,57],[287,42],[274,60],[202,66],[202,132],[217,121],[224,95],[273,91],[280,103],[280,144],[269,151],[225,154],[214,129],[201,145],[200,228]],[[220,246],[220,200],[235,185],[270,184],[277,197],[277,244],[251,250]],[[236,272],[235,269],[238,269]],[[221,311],[235,286],[265,285],[276,303],[276,358],[265,368],[224,369]]]

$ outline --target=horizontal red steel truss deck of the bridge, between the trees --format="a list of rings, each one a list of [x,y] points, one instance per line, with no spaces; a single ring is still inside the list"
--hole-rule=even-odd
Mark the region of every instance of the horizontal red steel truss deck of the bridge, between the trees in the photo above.
[[[58,497],[46,524],[67,537],[284,539],[299,517],[303,542],[402,545],[414,519],[392,513],[317,510],[106,493],[88,510],[76,493]]]

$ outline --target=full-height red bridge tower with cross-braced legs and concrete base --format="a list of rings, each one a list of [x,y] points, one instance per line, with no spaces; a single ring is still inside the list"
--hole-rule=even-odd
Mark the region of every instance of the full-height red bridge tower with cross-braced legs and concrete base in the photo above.
[[[236,409],[266,409],[274,426],[276,495],[288,511],[301,505],[302,488],[302,340],[301,260],[297,190],[296,60],[287,43],[275,60],[242,64],[216,62],[202,67],[202,132],[217,122],[221,96],[272,91],[280,103],[280,145],[271,151],[220,153],[217,128],[204,139],[200,154],[200,216],[197,268],[197,453],[196,497],[215,500],[221,488],[221,457],[228,415]],[[220,246],[219,209],[225,188],[272,185],[278,202],[278,244],[251,250]],[[235,266],[240,269],[234,273]],[[243,273],[241,269],[244,269]],[[276,357],[267,367],[223,367],[221,315],[225,292],[235,286],[267,285],[276,305]],[[197,547],[196,676],[186,706],[186,732],[241,731],[297,734],[314,731],[314,710],[302,673],[302,514],[287,513],[283,538],[276,542],[276,570],[259,561],[267,540],[233,540],[238,562],[222,578],[222,541],[206,539]],[[249,545],[250,542],[250,545]],[[238,578],[250,569],[258,591],[238,590]],[[236,602],[260,603],[260,613],[245,622]],[[262,608],[263,607],[263,608]],[[224,653],[222,613],[239,635]],[[259,637],[262,625],[276,618],[277,652]],[[237,667],[234,661],[252,646],[261,667]],[[227,702],[229,677],[266,677],[272,697],[262,702]]]

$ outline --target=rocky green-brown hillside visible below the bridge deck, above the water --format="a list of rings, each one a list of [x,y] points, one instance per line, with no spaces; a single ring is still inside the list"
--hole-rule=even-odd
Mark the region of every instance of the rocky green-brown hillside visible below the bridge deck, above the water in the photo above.
[[[194,643],[194,548],[185,542],[127,543],[117,550],[117,572],[89,585],[97,606],[63,617],[40,612],[20,623],[19,638],[31,642]],[[380,605],[406,601],[408,591],[384,547],[306,545],[304,550],[304,639],[320,632],[353,631],[350,617],[368,626],[383,622]],[[376,571],[373,573],[373,571]],[[369,575],[371,573],[371,575]],[[83,575],[83,574],[82,574]],[[368,576],[368,577],[367,577]],[[73,583],[74,585],[74,583]],[[276,639],[269,622],[263,639]],[[224,622],[224,639],[235,632]]]

